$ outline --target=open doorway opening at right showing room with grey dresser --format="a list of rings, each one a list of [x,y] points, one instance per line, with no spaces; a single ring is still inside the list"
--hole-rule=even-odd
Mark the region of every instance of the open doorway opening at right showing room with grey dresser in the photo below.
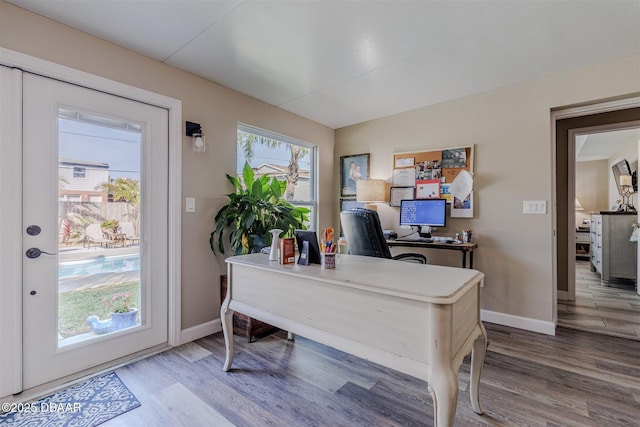
[[[597,215],[591,224],[592,214],[611,212],[620,203],[612,166],[622,159],[628,160],[630,171],[637,170],[640,123],[573,129],[570,138],[575,146],[570,149],[575,152],[576,207],[575,251],[568,261],[574,262],[575,276],[568,284],[567,299],[559,298],[558,325],[640,340],[640,296],[634,281],[637,245],[628,241],[630,224],[637,221],[637,215]],[[630,199],[637,205],[635,194]],[[609,235],[613,231],[609,224],[620,227],[619,239],[606,242],[615,242],[616,247],[602,248],[602,239],[596,237],[602,236],[602,221]],[[603,254],[615,259],[603,261]]]

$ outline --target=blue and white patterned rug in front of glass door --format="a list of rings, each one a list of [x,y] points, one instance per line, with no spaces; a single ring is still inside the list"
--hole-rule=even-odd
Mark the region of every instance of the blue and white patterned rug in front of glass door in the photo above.
[[[93,427],[140,406],[115,372],[35,402],[3,403],[2,427]]]

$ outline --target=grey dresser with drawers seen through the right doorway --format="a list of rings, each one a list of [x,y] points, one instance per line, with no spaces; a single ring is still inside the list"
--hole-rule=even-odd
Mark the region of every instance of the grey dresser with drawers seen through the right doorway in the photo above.
[[[591,216],[591,270],[603,285],[612,278],[637,280],[637,243],[629,241],[636,213],[600,212]]]

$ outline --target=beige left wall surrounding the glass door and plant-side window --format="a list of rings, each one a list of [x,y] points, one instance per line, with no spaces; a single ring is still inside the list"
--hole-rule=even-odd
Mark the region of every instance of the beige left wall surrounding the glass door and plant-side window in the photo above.
[[[236,124],[317,144],[320,170],[333,169],[332,129],[2,1],[0,46],[180,99],[183,122],[202,125],[205,154],[193,153],[183,137],[183,200],[195,197],[197,206],[196,213],[182,213],[183,329],[219,318],[218,277],[226,270],[224,257],[209,248],[209,234],[231,191],[225,173],[235,172]],[[333,176],[320,176],[320,226],[333,215]]]

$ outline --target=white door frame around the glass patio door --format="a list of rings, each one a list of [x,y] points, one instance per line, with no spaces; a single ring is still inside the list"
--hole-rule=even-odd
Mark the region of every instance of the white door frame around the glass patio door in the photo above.
[[[43,59],[35,58],[30,55],[25,55],[20,52],[12,51],[6,48],[0,47],[0,64],[7,67],[18,68],[23,71],[28,71],[34,74],[39,74],[44,77],[53,78],[63,82],[84,86],[89,89],[95,89],[110,93],[113,95],[122,96],[132,99],[134,101],[144,102],[147,104],[162,107],[169,112],[169,260],[168,260],[168,280],[169,280],[169,295],[168,295],[168,345],[176,346],[181,344],[181,187],[182,187],[182,101],[168,96],[160,95],[154,92],[147,91],[145,89],[136,88],[124,83],[116,82],[106,79],[104,77],[95,76],[83,71],[75,70],[63,65],[55,64]],[[20,135],[10,135],[10,137],[16,140],[21,140]],[[9,135],[7,135],[9,138]],[[3,153],[4,154],[4,153]],[[22,160],[21,151],[19,153],[13,153],[13,158],[3,161],[3,180],[10,179],[13,183],[20,183],[22,181],[22,168],[20,166]],[[16,161],[15,157],[19,155],[20,159]],[[4,159],[4,157],[3,157]],[[22,206],[22,193],[11,193],[16,200],[11,200],[11,203],[17,206]],[[21,208],[20,208],[21,211]],[[21,248],[21,235],[22,230],[13,230],[16,223],[9,224],[10,230],[8,231],[8,238],[3,242],[8,248]],[[19,220],[17,224],[22,227],[22,220]],[[3,226],[0,224],[0,226]],[[16,259],[18,265],[22,263],[22,254],[20,251],[14,251],[16,257],[9,259],[0,259],[0,270],[15,269]],[[14,276],[14,280],[17,277]],[[21,282],[21,281],[20,281]],[[7,358],[14,366],[2,366],[0,370],[0,380],[9,381],[11,383],[11,390],[13,392],[22,390],[22,328],[17,328],[21,325],[22,316],[22,289],[8,295],[8,298],[3,298],[0,302],[0,311],[3,312],[3,318],[13,319],[13,325],[11,333],[8,336],[0,336],[7,346],[3,345],[3,348],[14,349],[13,353]],[[3,331],[0,330],[0,333]],[[18,355],[17,352],[20,352]],[[7,353],[9,354],[9,353]],[[3,360],[0,355],[0,360]],[[20,375],[11,373],[18,372]],[[1,394],[1,393],[0,393]],[[2,396],[0,396],[2,397]]]

